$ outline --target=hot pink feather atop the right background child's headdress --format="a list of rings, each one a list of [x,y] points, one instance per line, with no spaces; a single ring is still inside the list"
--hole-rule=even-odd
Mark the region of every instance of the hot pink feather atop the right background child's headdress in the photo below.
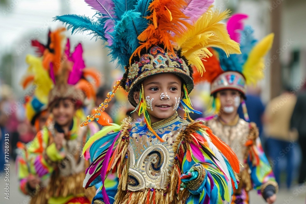
[[[243,30],[243,22],[241,20],[248,18],[248,15],[242,13],[236,13],[227,21],[227,31],[230,34],[230,38],[237,43],[240,43],[240,31]]]

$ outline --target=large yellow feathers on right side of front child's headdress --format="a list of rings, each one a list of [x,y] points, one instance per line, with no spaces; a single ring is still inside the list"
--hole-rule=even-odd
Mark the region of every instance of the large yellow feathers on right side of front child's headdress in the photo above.
[[[212,6],[211,6],[212,8]],[[229,54],[241,54],[239,44],[230,39],[226,26],[221,20],[229,17],[230,11],[220,13],[209,8],[194,24],[181,36],[176,37],[177,46],[187,58],[190,65],[194,65],[200,74],[205,72],[201,58],[211,57],[207,47],[218,47]]]

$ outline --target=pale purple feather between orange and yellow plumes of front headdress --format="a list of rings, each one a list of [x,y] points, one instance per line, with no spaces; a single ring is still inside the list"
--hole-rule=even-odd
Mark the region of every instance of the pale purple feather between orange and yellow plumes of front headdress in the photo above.
[[[214,3],[214,0],[185,0],[187,6],[185,6],[182,12],[185,16],[189,17],[186,21],[189,24],[194,24],[200,16],[207,11],[207,9]]]

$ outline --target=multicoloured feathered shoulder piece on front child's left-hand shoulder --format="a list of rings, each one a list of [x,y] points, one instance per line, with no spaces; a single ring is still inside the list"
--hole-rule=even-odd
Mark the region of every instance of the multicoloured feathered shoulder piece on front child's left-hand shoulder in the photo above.
[[[89,149],[92,162],[86,169],[83,187],[88,188],[101,181],[104,184],[106,175],[111,169],[113,169],[113,172],[116,172],[117,168],[121,168],[120,165],[116,164],[117,162],[120,163],[123,157],[125,157],[129,142],[131,121],[131,118],[125,118],[121,122],[121,126],[118,124],[110,124],[88,139],[83,148],[83,155],[85,154],[86,156]],[[124,136],[120,138],[120,135]],[[121,154],[122,152],[124,152],[124,155]],[[121,175],[118,176],[120,177]],[[106,195],[104,185],[102,193]]]

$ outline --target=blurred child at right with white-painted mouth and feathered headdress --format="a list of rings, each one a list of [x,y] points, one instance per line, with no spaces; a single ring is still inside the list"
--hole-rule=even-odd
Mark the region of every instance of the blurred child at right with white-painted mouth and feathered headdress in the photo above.
[[[248,191],[255,188],[270,204],[276,200],[278,185],[261,147],[256,124],[246,122],[249,120],[244,99],[246,83],[255,83],[263,77],[263,57],[271,48],[274,35],[267,35],[257,43],[252,28],[246,26],[244,32],[248,34],[239,34],[243,29],[241,20],[246,17],[236,14],[227,23],[231,38],[237,42],[241,39],[242,54],[227,58],[222,50],[211,49],[213,57],[203,61],[207,68],[205,78],[211,82],[212,108],[216,114],[207,118],[206,124],[233,149],[244,166],[238,175],[241,179],[232,203],[249,203]],[[237,114],[240,103],[246,121]]]

